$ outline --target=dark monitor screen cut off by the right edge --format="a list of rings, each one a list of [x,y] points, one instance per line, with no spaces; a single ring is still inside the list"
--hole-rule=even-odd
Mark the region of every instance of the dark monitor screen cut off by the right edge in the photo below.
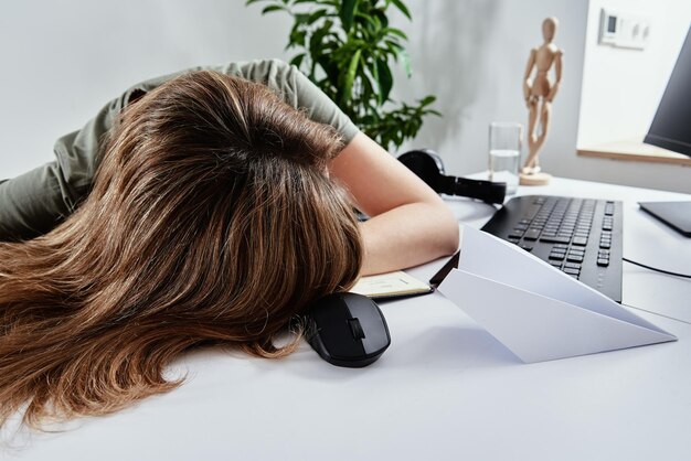
[[[691,28],[644,142],[691,157]]]

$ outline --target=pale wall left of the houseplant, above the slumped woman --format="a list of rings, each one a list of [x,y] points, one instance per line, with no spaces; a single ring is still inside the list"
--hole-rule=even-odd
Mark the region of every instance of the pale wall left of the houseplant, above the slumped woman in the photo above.
[[[280,57],[289,23],[259,11],[240,0],[0,2],[0,179],[53,160],[56,138],[139,81]]]

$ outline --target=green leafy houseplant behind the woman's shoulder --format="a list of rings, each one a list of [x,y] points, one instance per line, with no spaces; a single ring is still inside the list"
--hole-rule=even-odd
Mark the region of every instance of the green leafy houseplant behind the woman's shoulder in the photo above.
[[[286,50],[290,61],[319,86],[365,133],[384,148],[414,138],[434,96],[415,104],[391,99],[392,63],[411,76],[407,36],[389,24],[394,7],[411,19],[402,0],[247,0],[265,3],[262,13],[283,11],[294,19]]]

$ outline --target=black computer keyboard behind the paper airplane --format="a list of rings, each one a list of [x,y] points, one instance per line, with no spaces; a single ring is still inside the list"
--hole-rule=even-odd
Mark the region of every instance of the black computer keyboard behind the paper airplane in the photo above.
[[[621,202],[517,196],[482,230],[621,302]]]

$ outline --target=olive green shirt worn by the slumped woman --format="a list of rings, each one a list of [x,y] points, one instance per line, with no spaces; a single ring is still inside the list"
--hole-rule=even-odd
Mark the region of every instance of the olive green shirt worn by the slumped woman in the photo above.
[[[68,216],[91,191],[99,162],[99,142],[130,100],[170,78],[201,69],[261,82],[315,121],[333,126],[348,143],[358,128],[295,66],[277,60],[193,67],[132,86],[113,99],[84,128],[55,142],[56,160],[12,180],[0,181],[0,242],[44,234]]]

